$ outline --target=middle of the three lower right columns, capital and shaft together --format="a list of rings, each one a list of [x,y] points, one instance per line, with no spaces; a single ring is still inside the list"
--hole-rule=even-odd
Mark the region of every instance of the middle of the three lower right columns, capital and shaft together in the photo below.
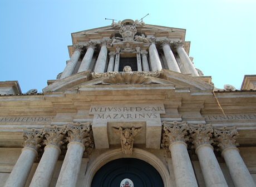
[[[213,143],[211,125],[190,125],[190,134],[194,139],[195,153],[198,155],[206,187],[228,187],[211,146]]]

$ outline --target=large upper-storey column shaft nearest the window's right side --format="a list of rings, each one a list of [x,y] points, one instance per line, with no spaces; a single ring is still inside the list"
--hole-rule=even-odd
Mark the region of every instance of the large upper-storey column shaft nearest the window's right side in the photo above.
[[[150,56],[150,64],[151,64],[152,72],[155,72],[157,70],[161,70],[162,69],[162,64],[161,64],[159,55],[157,53],[155,43],[152,43],[149,46],[149,56]]]

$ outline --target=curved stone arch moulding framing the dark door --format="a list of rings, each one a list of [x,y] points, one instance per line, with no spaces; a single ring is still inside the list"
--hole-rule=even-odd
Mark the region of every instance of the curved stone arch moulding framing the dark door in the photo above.
[[[135,158],[144,160],[146,163],[150,164],[152,167],[154,167],[159,175],[161,176],[161,179],[163,180],[164,187],[171,186],[171,178],[167,166],[164,165],[164,163],[157,158],[154,154],[142,150],[142,149],[133,149],[132,155],[125,155],[122,154],[121,149],[115,149],[105,152],[104,154],[101,154],[98,156],[95,160],[92,161],[92,163],[88,166],[88,169],[86,171],[85,178],[83,180],[83,187],[90,187],[91,182],[93,179],[93,176],[95,176],[96,172],[100,170],[102,166],[109,163],[112,160],[121,159],[121,158]],[[175,183],[175,181],[172,181]]]

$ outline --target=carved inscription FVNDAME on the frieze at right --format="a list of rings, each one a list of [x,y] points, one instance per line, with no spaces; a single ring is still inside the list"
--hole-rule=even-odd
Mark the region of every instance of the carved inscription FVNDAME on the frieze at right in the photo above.
[[[208,115],[206,120],[250,120],[256,119],[255,114],[237,114],[237,115]]]

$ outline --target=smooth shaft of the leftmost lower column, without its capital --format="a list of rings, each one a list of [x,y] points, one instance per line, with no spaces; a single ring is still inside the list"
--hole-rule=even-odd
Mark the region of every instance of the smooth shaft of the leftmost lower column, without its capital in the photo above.
[[[4,187],[24,187],[36,156],[35,149],[23,148]]]

